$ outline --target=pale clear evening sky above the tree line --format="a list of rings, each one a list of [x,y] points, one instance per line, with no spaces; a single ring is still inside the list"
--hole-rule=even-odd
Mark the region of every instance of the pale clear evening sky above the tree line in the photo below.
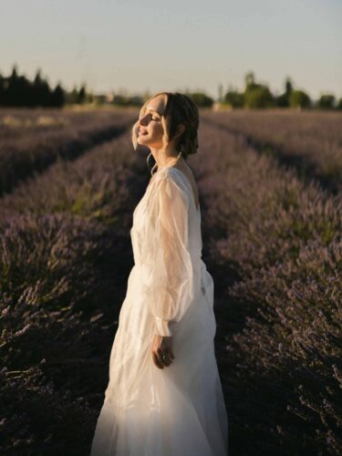
[[[94,93],[342,97],[342,0],[0,0],[0,73]]]

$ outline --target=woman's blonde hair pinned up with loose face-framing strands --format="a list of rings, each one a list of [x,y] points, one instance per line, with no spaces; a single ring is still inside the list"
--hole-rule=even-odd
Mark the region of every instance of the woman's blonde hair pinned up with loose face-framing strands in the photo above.
[[[176,148],[186,160],[188,155],[196,153],[199,146],[198,127],[200,115],[197,105],[192,101],[192,98],[179,92],[159,92],[145,101],[140,109],[139,119],[145,114],[146,106],[149,104],[150,100],[159,95],[166,96],[165,109],[161,116],[161,124],[164,129],[162,138],[163,147],[166,148],[167,144],[173,139],[178,125],[183,124],[185,130],[178,138]],[[139,120],[135,122],[132,128],[132,142],[135,150],[138,147],[138,130]]]

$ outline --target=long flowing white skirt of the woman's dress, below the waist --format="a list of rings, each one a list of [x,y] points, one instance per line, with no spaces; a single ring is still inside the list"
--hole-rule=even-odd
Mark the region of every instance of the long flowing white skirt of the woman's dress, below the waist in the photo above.
[[[157,368],[150,307],[140,266],[127,295],[109,359],[109,385],[90,456],[226,456],[228,418],[214,354],[212,275],[201,260],[192,306],[177,324],[174,359]]]

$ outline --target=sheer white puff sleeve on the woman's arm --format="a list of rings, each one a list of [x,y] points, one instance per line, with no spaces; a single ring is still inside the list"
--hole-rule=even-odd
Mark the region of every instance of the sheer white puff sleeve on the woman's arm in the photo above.
[[[154,316],[156,334],[170,337],[193,299],[189,197],[167,175],[156,177],[147,203],[142,292]]]

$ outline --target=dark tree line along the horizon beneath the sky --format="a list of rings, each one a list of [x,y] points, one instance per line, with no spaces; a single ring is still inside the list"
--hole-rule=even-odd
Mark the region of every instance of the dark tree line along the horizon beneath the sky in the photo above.
[[[342,97],[337,98],[332,94],[321,95],[314,100],[305,90],[294,88],[291,78],[285,79],[284,92],[280,95],[272,93],[267,85],[256,82],[254,73],[249,72],[244,78],[244,90],[229,86],[224,92],[223,85],[219,85],[218,98],[214,99],[202,91],[184,93],[191,97],[200,108],[229,108],[229,109],[265,109],[265,108],[290,108],[290,109],[342,109]],[[139,107],[150,97],[144,95],[129,96],[116,94],[111,98],[106,95],[93,95],[88,93],[86,85],[74,87],[67,91],[57,84],[50,88],[47,79],[43,78],[40,69],[31,81],[26,76],[19,76],[16,65],[8,77],[0,74],[0,106],[6,107],[56,107],[61,108],[66,104],[95,103],[113,104],[117,106]]]

